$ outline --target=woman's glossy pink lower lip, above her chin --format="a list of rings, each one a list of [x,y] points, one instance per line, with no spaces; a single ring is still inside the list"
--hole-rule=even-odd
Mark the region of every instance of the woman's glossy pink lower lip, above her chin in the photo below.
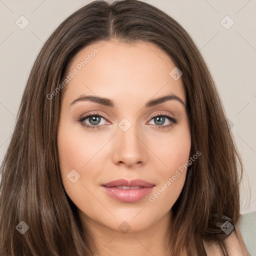
[[[105,192],[120,202],[137,202],[149,194],[154,186],[136,189],[120,189],[117,187],[102,186]]]

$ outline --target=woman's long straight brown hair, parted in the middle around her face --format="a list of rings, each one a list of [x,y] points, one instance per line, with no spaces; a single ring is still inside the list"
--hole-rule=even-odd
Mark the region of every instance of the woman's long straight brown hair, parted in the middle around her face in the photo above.
[[[191,132],[184,187],[172,207],[169,244],[173,255],[206,255],[202,238],[226,251],[220,228],[239,219],[242,163],[208,68],[188,33],[170,16],[141,1],[93,1],[67,17],[39,52],[27,80],[16,125],[1,166],[0,253],[94,255],[93,241],[61,182],[57,154],[61,83],[72,57],[96,41],[152,42],[182,71]],[[226,218],[226,217],[227,218]],[[20,234],[15,226],[29,229]],[[173,235],[175,234],[175,235]],[[227,255],[227,254],[226,254]]]

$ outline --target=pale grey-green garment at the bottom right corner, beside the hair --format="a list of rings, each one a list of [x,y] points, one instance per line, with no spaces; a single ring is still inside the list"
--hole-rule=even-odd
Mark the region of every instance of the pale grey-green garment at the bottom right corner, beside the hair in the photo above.
[[[256,256],[256,211],[241,214],[236,225],[250,256]]]

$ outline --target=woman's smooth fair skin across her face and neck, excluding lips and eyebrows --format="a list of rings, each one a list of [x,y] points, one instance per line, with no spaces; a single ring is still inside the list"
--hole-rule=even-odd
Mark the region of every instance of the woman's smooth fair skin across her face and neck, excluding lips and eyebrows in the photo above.
[[[172,79],[169,72],[175,64],[154,44],[128,44],[113,39],[83,48],[72,59],[67,73],[95,48],[99,52],[62,91],[57,141],[64,188],[91,232],[95,254],[166,255],[165,232],[171,207],[184,185],[186,169],[154,202],[148,197],[189,159],[190,130],[182,80]],[[184,104],[171,99],[144,107],[148,100],[170,93]],[[71,104],[81,95],[109,98],[116,106],[91,101]],[[79,121],[93,111],[104,117],[99,129],[88,129]],[[171,123],[165,118],[164,124],[157,125],[152,115],[158,113],[169,114],[177,122],[158,128]],[[127,131],[118,126],[123,118],[131,123]],[[84,122],[93,125],[89,118]],[[72,169],[80,175],[74,183],[67,178]],[[138,202],[119,202],[101,187],[118,178],[141,178],[155,187]],[[123,221],[130,227],[126,233],[119,229]]]

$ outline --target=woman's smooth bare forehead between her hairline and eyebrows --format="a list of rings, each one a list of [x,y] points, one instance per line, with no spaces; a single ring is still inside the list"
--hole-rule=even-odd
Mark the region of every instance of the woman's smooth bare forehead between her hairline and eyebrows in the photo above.
[[[145,101],[169,93],[185,102],[182,80],[169,74],[175,64],[167,53],[150,42],[95,42],[72,59],[71,75],[63,91],[71,102],[81,94],[98,95],[114,101]]]

